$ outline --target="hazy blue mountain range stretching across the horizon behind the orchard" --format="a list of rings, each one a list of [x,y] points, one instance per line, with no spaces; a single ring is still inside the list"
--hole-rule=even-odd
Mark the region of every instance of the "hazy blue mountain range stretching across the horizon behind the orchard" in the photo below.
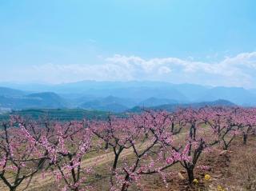
[[[256,105],[256,90],[168,82],[74,82],[60,85],[1,84],[0,109],[81,108],[124,112],[177,105]]]

